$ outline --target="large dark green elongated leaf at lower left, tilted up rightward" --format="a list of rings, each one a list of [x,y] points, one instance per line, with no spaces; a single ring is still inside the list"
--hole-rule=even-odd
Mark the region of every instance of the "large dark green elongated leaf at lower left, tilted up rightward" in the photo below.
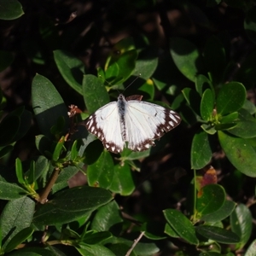
[[[65,189],[58,192],[52,200],[38,207],[33,223],[65,224],[95,211],[111,200],[112,195],[106,189],[88,186]]]

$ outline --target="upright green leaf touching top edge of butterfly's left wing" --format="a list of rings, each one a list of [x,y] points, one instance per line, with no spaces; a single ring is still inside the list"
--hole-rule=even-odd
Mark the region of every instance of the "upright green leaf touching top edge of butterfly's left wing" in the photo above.
[[[93,75],[84,75],[83,95],[89,113],[95,112],[109,102],[108,92],[104,84]]]

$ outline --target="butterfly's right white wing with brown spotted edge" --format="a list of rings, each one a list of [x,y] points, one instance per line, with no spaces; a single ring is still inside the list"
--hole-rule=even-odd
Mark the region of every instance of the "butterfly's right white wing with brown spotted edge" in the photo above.
[[[125,112],[125,142],[133,151],[143,151],[154,145],[154,140],[171,131],[181,122],[180,116],[159,105],[128,101]]]

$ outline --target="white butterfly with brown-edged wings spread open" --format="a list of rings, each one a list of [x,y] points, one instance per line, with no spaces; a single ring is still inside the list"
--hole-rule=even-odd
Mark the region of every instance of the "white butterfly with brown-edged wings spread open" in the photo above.
[[[87,130],[115,154],[123,151],[125,142],[133,151],[154,146],[154,140],[179,125],[181,118],[169,108],[142,102],[142,98],[137,95],[125,98],[120,94],[117,102],[99,108],[85,120]]]

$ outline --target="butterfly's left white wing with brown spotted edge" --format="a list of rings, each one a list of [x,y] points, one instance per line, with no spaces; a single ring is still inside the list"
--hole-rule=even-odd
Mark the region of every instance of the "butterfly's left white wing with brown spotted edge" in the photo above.
[[[125,142],[121,136],[117,102],[110,102],[99,108],[85,120],[85,126],[109,151],[116,154],[123,151]]]

